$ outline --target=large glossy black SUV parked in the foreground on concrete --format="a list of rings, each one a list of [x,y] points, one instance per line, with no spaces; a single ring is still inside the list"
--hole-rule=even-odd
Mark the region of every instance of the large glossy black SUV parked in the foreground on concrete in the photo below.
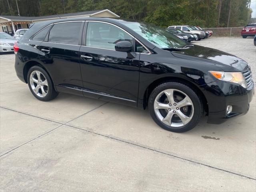
[[[254,94],[248,64],[194,46],[165,29],[111,18],[35,23],[14,45],[18,78],[41,101],[66,92],[149,108],[174,132],[246,114]]]

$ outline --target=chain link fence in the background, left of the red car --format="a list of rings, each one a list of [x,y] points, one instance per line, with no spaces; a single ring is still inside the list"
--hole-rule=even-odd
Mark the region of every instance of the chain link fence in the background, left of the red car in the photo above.
[[[241,36],[241,31],[244,27],[228,27],[228,28],[204,28],[211,30],[214,36]]]

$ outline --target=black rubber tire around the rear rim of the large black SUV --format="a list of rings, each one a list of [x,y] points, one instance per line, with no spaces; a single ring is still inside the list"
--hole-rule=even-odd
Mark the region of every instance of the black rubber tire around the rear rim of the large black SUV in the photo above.
[[[48,83],[48,92],[46,94],[46,96],[44,97],[39,97],[37,96],[34,91],[32,90],[32,87],[30,85],[30,74],[33,72],[33,71],[40,71],[44,77],[46,78],[47,80],[47,83]],[[50,101],[54,98],[56,98],[56,96],[58,96],[58,92],[56,92],[56,90],[54,89],[54,85],[52,83],[52,80],[50,78],[50,76],[48,75],[48,73],[40,66],[32,66],[29,70],[28,70],[28,76],[27,76],[27,82],[28,82],[28,87],[30,89],[30,91],[32,92],[32,94],[34,95],[35,98],[37,98],[38,100],[40,101]]]

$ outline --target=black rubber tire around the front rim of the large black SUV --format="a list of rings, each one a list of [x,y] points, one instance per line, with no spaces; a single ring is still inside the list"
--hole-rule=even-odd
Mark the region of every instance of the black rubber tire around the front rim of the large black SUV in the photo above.
[[[190,122],[188,122],[188,124],[180,127],[172,127],[164,124],[156,116],[155,110],[154,110],[154,101],[156,99],[156,96],[158,96],[160,92],[167,89],[180,90],[185,94],[187,94],[192,100],[193,106],[194,106],[194,115],[192,116],[192,119],[190,120]],[[186,132],[188,130],[191,130],[196,126],[196,124],[198,124],[204,112],[202,101],[200,97],[196,94],[196,92],[194,92],[191,88],[189,88],[185,84],[182,84],[179,82],[165,82],[158,85],[150,94],[150,97],[148,100],[148,108],[149,108],[150,115],[153,118],[153,120],[156,122],[156,124],[158,124],[163,129],[172,131],[172,132]]]

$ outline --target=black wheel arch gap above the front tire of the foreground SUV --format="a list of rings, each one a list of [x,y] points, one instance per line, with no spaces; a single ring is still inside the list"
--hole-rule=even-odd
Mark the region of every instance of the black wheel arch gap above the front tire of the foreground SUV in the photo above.
[[[143,108],[144,109],[146,108],[146,106],[148,106],[148,99],[149,99],[151,92],[154,90],[154,88],[156,88],[158,85],[160,85],[164,82],[179,82],[179,83],[185,84],[188,87],[192,88],[196,92],[196,94],[201,98],[203,106],[204,106],[204,111],[206,113],[208,113],[207,99],[204,96],[202,90],[200,90],[200,88],[198,88],[198,86],[196,86],[192,82],[190,82],[184,78],[179,78],[179,77],[163,77],[163,78],[159,78],[159,79],[155,80],[154,82],[152,82],[146,88],[146,91],[144,92],[144,97],[143,97]]]

